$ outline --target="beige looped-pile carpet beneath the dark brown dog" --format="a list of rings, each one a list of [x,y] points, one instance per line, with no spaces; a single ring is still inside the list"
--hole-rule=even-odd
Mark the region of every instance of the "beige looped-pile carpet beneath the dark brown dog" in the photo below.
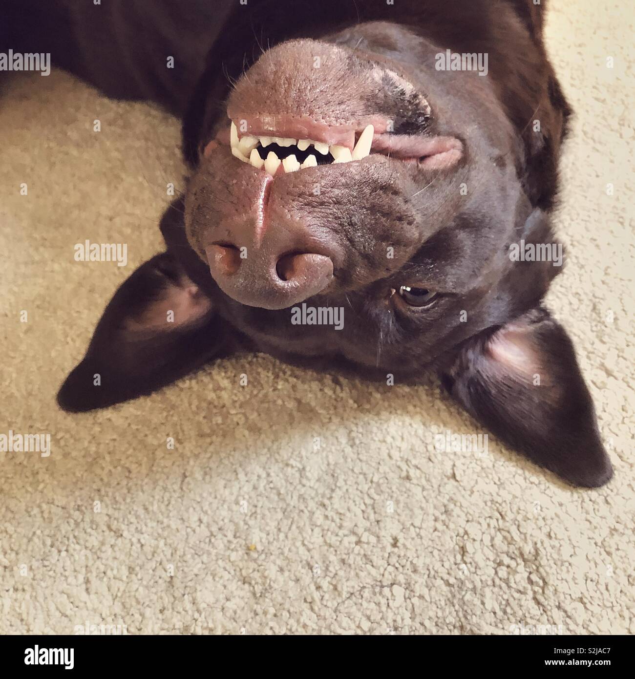
[[[179,124],[26,75],[0,100],[0,433],[50,433],[52,452],[0,453],[0,632],[635,633],[633,15],[559,4],[549,48],[577,117],[568,266],[548,301],[593,392],[610,485],[573,490],[493,437],[483,457],[439,453],[435,433],[475,425],[432,388],[267,356],[62,414],[56,388],[105,302],[158,251],[166,183],[183,187]],[[128,265],[74,261],[86,238],[127,243]]]

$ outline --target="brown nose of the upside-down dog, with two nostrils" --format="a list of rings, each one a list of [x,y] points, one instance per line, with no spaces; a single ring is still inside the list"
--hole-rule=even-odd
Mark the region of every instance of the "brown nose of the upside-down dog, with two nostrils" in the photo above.
[[[278,249],[239,249],[233,244],[206,248],[211,274],[219,288],[248,306],[285,309],[323,291],[333,278],[327,255]]]

